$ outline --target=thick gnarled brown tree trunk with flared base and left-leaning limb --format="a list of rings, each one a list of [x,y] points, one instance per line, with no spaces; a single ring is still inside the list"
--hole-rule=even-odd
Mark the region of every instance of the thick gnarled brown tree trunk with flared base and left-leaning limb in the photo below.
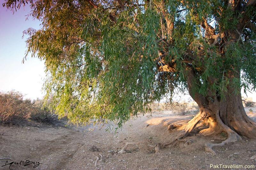
[[[223,130],[225,131],[225,128],[228,127],[239,135],[248,138],[256,138],[256,123],[245,113],[241,97],[241,89],[238,89],[235,94],[234,88],[231,87],[232,78],[240,78],[240,71],[237,71],[236,73],[229,71],[225,76],[229,77],[230,80],[225,99],[220,99],[216,92],[215,95],[212,95],[212,91],[209,91],[207,97],[204,97],[198,92],[193,91],[193,89],[195,89],[196,75],[192,69],[187,70],[188,92],[198,104],[200,113],[203,114],[201,117],[206,114],[205,117],[208,119],[209,123],[209,128],[200,131],[200,133],[202,135],[212,135],[214,133],[220,133],[220,131]],[[220,117],[219,122],[216,120],[216,114]],[[198,122],[194,123],[197,124]],[[223,129],[223,127],[220,126],[221,123],[227,127]]]

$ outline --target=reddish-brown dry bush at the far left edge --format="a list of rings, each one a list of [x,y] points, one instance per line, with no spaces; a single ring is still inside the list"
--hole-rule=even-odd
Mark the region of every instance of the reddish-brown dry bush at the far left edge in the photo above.
[[[31,100],[23,100],[20,92],[0,92],[0,122],[28,119],[33,109]]]

